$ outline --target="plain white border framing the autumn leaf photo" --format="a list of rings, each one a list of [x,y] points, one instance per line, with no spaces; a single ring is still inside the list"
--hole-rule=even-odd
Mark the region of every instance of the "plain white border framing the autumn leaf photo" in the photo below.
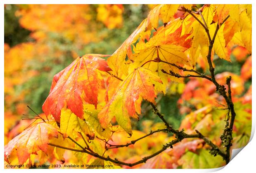
[[[193,1],[189,1],[189,0],[179,0],[178,1],[179,4],[229,4],[228,1],[223,1],[223,0],[193,0]],[[255,53],[255,1],[253,0],[232,0],[231,1],[232,4],[252,4],[252,54],[253,54],[253,58],[252,58],[252,66],[254,68],[252,68],[253,70],[253,75],[252,75],[252,83],[253,83],[253,89],[255,88],[254,87],[254,83],[255,83],[255,78],[256,78],[256,72],[255,72],[255,63],[256,63],[256,60],[254,60],[254,53]],[[1,69],[1,75],[0,75],[0,81],[1,81],[1,84],[0,84],[0,95],[1,95],[1,100],[0,100],[0,110],[2,111],[2,118],[4,118],[4,4],[83,4],[83,3],[88,3],[88,4],[156,4],[156,3],[159,3],[159,4],[164,4],[164,3],[173,3],[173,4],[176,4],[177,1],[166,1],[166,0],[129,0],[129,1],[124,1],[124,0],[119,0],[119,1],[104,1],[104,0],[87,0],[87,1],[81,1],[81,0],[72,0],[72,1],[68,1],[68,0],[1,0],[0,1],[0,14],[1,14],[1,18],[0,18],[0,23],[1,24],[1,33],[2,35],[0,36],[1,38],[1,44],[2,44],[2,48],[1,48],[1,58],[0,58],[0,69]],[[225,168],[221,169],[221,168],[217,168],[217,169],[161,169],[160,171],[161,172],[174,172],[174,173],[177,173],[177,172],[192,172],[192,173],[199,173],[199,172],[213,172],[213,171],[218,171],[220,170],[219,172],[220,173],[230,173],[232,171],[235,171],[235,172],[242,172],[242,171],[245,171],[245,172],[248,172],[248,173],[251,173],[251,172],[255,172],[255,167],[256,167],[256,164],[255,164],[255,157],[256,157],[256,139],[255,137],[253,138],[254,136],[254,131],[255,131],[255,122],[256,122],[256,117],[255,117],[255,94],[256,92],[254,90],[252,90],[252,96],[253,96],[253,99],[252,99],[252,132],[251,132],[251,141],[249,142],[249,144],[247,146],[244,147],[244,149],[242,150],[242,152],[240,152],[234,159],[232,159],[230,161],[230,163],[225,166]],[[4,154],[4,121],[1,120],[1,145],[0,145],[0,148],[2,150],[2,159],[3,159],[3,154]],[[0,164],[1,164],[1,168],[4,169],[4,160],[0,161]],[[7,172],[13,172],[13,171],[17,171],[17,172],[24,172],[24,171],[32,171],[32,170],[21,170],[21,169],[16,169],[16,170],[10,170],[10,169],[4,169],[4,171],[7,171]],[[33,170],[35,171],[35,170]],[[37,169],[36,171],[38,172],[45,172],[46,170],[43,170],[43,169]],[[47,171],[58,171],[56,169],[49,169]],[[68,171],[71,171],[70,169],[62,169],[61,170],[62,172],[68,172]],[[102,172],[104,171],[104,173],[113,173],[113,172],[119,172],[120,170],[111,170],[111,169],[105,169],[105,170],[76,170],[78,172],[81,172],[81,171],[89,171],[89,172]],[[128,172],[130,171],[129,169],[124,169],[124,170],[121,170],[123,172]],[[135,172],[139,171],[138,169],[135,169],[133,170]],[[147,170],[149,172],[155,172],[157,170]]]

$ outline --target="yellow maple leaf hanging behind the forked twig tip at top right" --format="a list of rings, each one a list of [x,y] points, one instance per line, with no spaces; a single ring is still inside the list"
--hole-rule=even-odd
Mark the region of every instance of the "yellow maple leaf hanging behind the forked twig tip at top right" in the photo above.
[[[223,20],[228,16],[228,9],[223,12],[221,11],[222,8],[222,5],[204,5],[203,7],[201,7],[201,9],[199,9],[202,11],[201,14],[204,17],[205,21],[204,25],[206,25],[206,28],[209,29],[211,39],[215,34],[217,25],[222,23]],[[197,18],[199,19],[199,21],[201,21],[201,23],[204,23],[201,16],[198,16]],[[218,19],[219,23],[216,23]],[[199,22],[195,21],[192,16],[189,20],[193,21],[191,24],[191,27],[193,28],[191,37],[195,38],[193,39],[192,46],[189,50],[190,57],[192,58],[192,66],[194,67],[194,64],[197,61],[199,54],[201,54],[203,57],[206,57],[206,55],[208,54],[209,38],[207,37],[204,28]],[[222,25],[217,32],[216,39],[213,44],[213,49],[220,58],[230,61],[230,57],[228,56],[228,49],[226,48],[226,42],[224,39],[223,28],[224,26]]]

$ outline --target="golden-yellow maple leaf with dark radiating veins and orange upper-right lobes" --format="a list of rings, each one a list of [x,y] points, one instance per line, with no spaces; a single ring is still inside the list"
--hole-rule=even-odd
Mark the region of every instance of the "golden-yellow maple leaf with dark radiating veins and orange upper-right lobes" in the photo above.
[[[175,30],[175,32],[166,35],[165,31],[170,27],[173,27],[173,25],[176,26],[176,23],[173,22],[166,25],[165,28],[159,28],[156,34],[146,44],[137,44],[136,48],[134,49],[135,53],[131,58],[131,60],[133,60],[133,64],[131,65],[132,67],[136,68],[143,65],[143,67],[157,72],[158,76],[161,77],[164,85],[167,84],[169,76],[161,72],[161,69],[164,69],[165,71],[172,70],[175,73],[179,73],[178,68],[162,62],[156,63],[149,61],[153,61],[155,58],[160,58],[161,60],[176,65],[183,66],[184,64],[188,64],[188,59],[184,51],[190,47],[191,39],[187,39],[190,34],[180,36],[182,32],[182,26],[180,26]],[[173,76],[171,76],[171,79],[173,81],[181,81],[180,79]]]

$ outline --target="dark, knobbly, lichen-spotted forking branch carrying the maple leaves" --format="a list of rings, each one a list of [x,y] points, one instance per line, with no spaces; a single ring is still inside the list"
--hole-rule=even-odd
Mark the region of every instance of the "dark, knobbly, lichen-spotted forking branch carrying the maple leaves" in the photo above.
[[[183,7],[184,8],[184,7]],[[185,8],[184,8],[185,9]],[[202,17],[202,20],[204,21],[205,25],[188,9],[185,9],[186,12],[188,12],[189,14],[191,14],[199,23],[200,25],[202,25],[206,31],[206,34],[208,36],[208,39],[209,39],[209,50],[208,50],[208,55],[206,56],[207,58],[207,61],[208,61],[208,64],[209,64],[209,71],[211,73],[211,78],[206,76],[205,74],[201,74],[200,72],[197,72],[196,70],[194,69],[186,69],[186,68],[183,68],[183,67],[180,67],[178,65],[175,65],[173,63],[170,63],[170,62],[166,62],[166,61],[163,61],[161,60],[159,57],[154,59],[154,60],[150,60],[148,62],[151,62],[151,61],[154,61],[154,62],[164,62],[166,64],[169,64],[169,65],[172,65],[180,70],[183,70],[184,72],[194,72],[194,73],[197,73],[199,75],[187,75],[187,76],[181,76],[179,74],[175,74],[173,71],[170,70],[170,73],[167,73],[165,72],[164,70],[162,70],[162,72],[166,73],[166,74],[170,74],[172,76],[175,76],[175,77],[201,77],[201,78],[206,78],[208,79],[209,81],[212,81],[214,83],[214,85],[216,85],[216,90],[218,92],[220,92],[220,95],[222,95],[226,101],[226,103],[228,104],[228,108],[231,112],[231,121],[230,121],[230,126],[227,127],[230,131],[230,133],[225,133],[223,134],[223,136],[225,136],[225,140],[228,141],[227,145],[226,146],[226,153],[222,152],[217,145],[213,144],[208,138],[206,138],[205,136],[203,136],[199,131],[196,130],[197,134],[186,134],[184,133],[184,130],[175,130],[172,128],[171,125],[169,125],[169,123],[165,120],[164,118],[164,115],[162,115],[161,113],[159,113],[159,111],[157,110],[156,106],[149,102],[153,108],[153,111],[156,115],[158,115],[158,117],[164,122],[164,124],[166,125],[167,127],[167,131],[169,132],[172,132],[173,134],[175,134],[175,140],[173,140],[171,143],[168,143],[166,145],[164,145],[164,147],[159,150],[158,152],[154,153],[153,155],[150,155],[148,157],[144,157],[142,160],[140,161],[137,161],[135,163],[132,163],[132,164],[129,164],[129,163],[125,163],[125,162],[122,162],[122,161],[119,161],[118,159],[111,159],[109,157],[102,157],[100,155],[98,155],[97,153],[90,153],[91,155],[95,156],[95,157],[98,157],[100,159],[104,159],[104,160],[107,160],[107,161],[112,161],[116,164],[123,164],[123,165],[127,165],[127,166],[134,166],[134,165],[137,165],[137,164],[140,164],[140,163],[143,163],[143,162],[146,162],[147,159],[150,159],[158,154],[160,154],[161,152],[163,152],[166,148],[168,147],[172,147],[173,144],[175,143],[178,143],[179,141],[183,140],[184,138],[201,138],[205,141],[206,144],[208,144],[209,146],[211,146],[211,151],[210,153],[214,156],[216,156],[217,154],[220,155],[221,157],[223,157],[223,159],[225,159],[226,163],[228,164],[228,162],[230,161],[230,146],[232,145],[231,141],[232,141],[232,127],[233,127],[233,124],[234,124],[234,121],[235,121],[235,111],[234,111],[234,104],[232,103],[232,99],[231,99],[231,90],[230,90],[230,81],[231,81],[231,77],[230,78],[227,78],[227,85],[228,85],[228,96],[227,96],[227,93],[225,91],[225,86],[224,85],[220,85],[217,81],[216,81],[216,78],[215,78],[215,74],[214,74],[214,68],[213,68],[213,65],[212,65],[212,62],[211,62],[211,52],[212,52],[212,48],[213,48],[213,43],[216,39],[216,35],[218,33],[218,30],[220,28],[220,26],[229,18],[229,15],[223,20],[223,23],[220,23],[220,25],[217,25],[216,26],[216,30],[214,32],[214,35],[213,35],[213,39],[211,39],[210,37],[210,33],[209,33],[209,29],[207,28],[207,25],[206,25],[206,22],[204,21],[204,18],[203,16],[201,15]],[[147,62],[145,62],[147,63]],[[143,65],[145,65],[145,63]],[[143,66],[142,65],[142,66]],[[108,72],[109,73],[109,72]],[[110,73],[109,73],[110,74]],[[112,75],[114,76],[114,75]],[[117,77],[117,76],[114,76],[115,78],[119,79],[120,81],[123,81],[121,78]],[[146,135],[146,136],[142,136],[142,138],[145,138],[147,136],[149,136],[150,134]],[[138,140],[140,140],[141,138],[139,138]],[[127,143],[126,145],[115,145],[113,146],[114,148],[120,148],[120,147],[126,147],[128,145],[131,145],[133,144],[134,141],[131,141],[131,143]],[[111,147],[110,147],[111,148]],[[109,148],[109,149],[110,149]],[[83,151],[83,152],[88,152],[88,151]]]

